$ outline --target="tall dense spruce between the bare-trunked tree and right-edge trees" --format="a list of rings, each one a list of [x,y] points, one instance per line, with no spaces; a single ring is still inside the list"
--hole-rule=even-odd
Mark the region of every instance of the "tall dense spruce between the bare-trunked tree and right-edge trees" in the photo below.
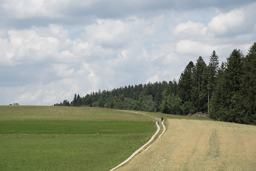
[[[215,95],[213,96],[209,111],[214,119],[226,122],[236,122],[236,113],[234,113],[235,92],[239,91],[243,53],[234,49],[227,58],[227,68],[218,78]]]

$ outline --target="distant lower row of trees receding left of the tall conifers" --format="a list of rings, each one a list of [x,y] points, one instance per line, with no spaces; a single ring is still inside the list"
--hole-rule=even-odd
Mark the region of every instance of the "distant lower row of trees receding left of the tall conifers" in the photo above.
[[[74,96],[73,101],[65,100],[63,103],[56,103],[55,106],[88,106],[108,107],[123,110],[143,110],[148,112],[160,111],[163,91],[168,87],[166,81],[155,82],[154,84],[139,84],[125,86],[111,91],[99,90],[86,96]]]

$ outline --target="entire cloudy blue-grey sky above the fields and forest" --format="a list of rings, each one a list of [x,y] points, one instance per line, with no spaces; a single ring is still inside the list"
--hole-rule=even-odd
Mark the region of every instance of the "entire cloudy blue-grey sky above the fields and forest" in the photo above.
[[[0,0],[0,105],[178,81],[256,41],[255,0]]]

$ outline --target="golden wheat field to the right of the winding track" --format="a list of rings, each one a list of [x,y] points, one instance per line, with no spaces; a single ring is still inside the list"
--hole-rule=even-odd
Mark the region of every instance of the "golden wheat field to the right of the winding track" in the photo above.
[[[150,148],[116,171],[255,171],[256,126],[168,119]]]

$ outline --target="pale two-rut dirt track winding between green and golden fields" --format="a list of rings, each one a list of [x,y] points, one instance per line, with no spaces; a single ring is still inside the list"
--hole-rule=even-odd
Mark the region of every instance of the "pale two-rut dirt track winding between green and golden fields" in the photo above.
[[[137,112],[134,112],[134,113],[137,113]],[[142,113],[139,113],[139,114],[142,114]],[[143,114],[145,115],[145,114]],[[146,115],[148,116],[148,115]],[[153,117],[153,116],[150,116],[150,117]],[[154,117],[153,117],[154,118]],[[156,118],[154,118],[156,119]],[[163,125],[163,122],[161,122],[161,124]],[[135,151],[130,157],[128,157],[128,159],[126,159],[125,161],[123,161],[122,163],[120,163],[119,165],[117,165],[116,167],[112,168],[110,171],[113,171],[115,170],[116,168],[120,167],[121,165],[125,164],[126,162],[128,162],[132,157],[134,157],[137,153],[139,153],[146,145],[148,145],[151,141],[153,141],[153,139],[155,138],[155,136],[157,135],[157,133],[159,132],[160,130],[160,126],[157,124],[156,122],[156,125],[157,125],[157,131],[154,133],[154,135],[151,137],[151,139],[149,139],[149,141],[147,143],[145,143],[141,148],[139,148],[137,151]],[[165,132],[166,130],[166,127],[163,125],[163,132],[158,136],[157,139],[159,139],[163,133]],[[154,141],[156,142],[157,139]],[[145,150],[147,150],[151,145],[149,145]]]

